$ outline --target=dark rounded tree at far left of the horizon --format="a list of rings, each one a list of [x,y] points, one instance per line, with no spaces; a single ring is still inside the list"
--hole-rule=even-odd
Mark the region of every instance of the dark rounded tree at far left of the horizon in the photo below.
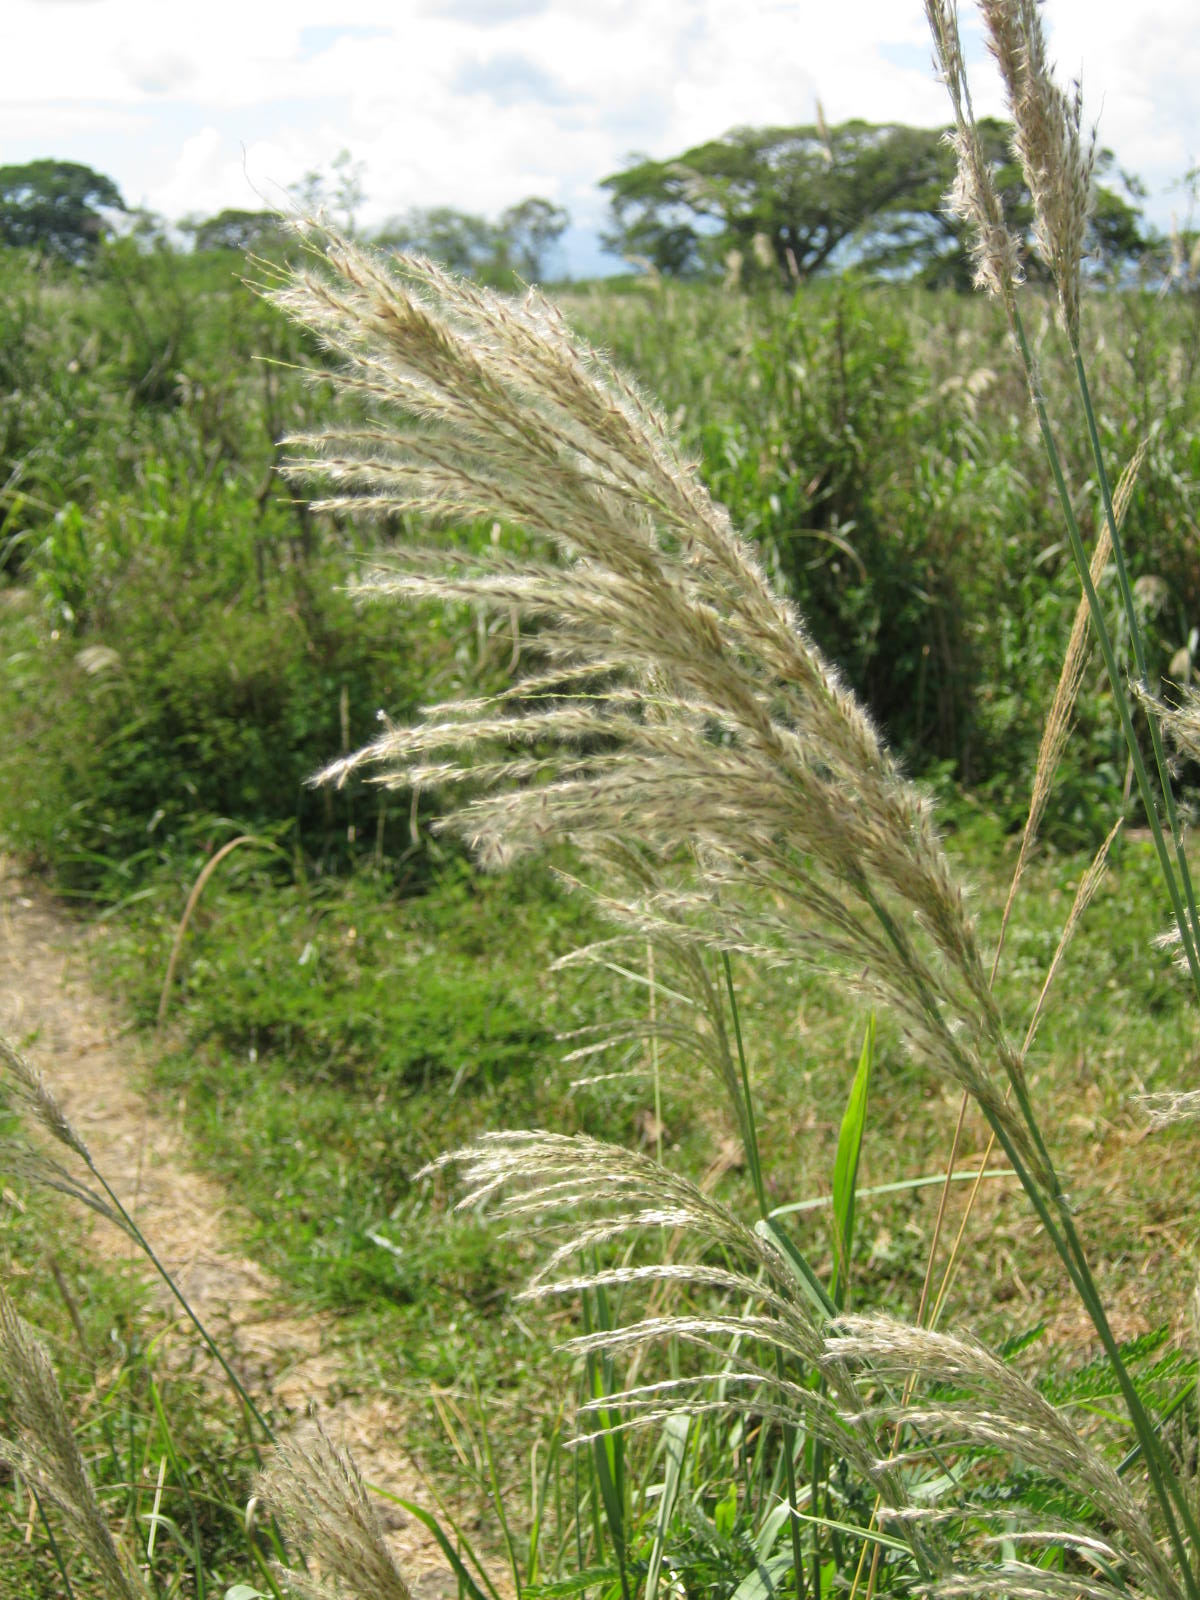
[[[125,211],[110,178],[77,162],[0,166],[0,242],[82,261],[110,232],[104,211]]]

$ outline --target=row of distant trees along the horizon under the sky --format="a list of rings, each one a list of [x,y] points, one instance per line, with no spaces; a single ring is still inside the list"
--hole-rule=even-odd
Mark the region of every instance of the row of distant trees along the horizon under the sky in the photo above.
[[[981,123],[986,158],[1013,226],[1032,230],[1032,200],[1014,162],[1010,128]],[[1157,242],[1146,230],[1134,179],[1096,157],[1093,256],[1120,272]],[[1115,182],[1112,181],[1115,178]],[[822,120],[789,128],[739,128],[670,160],[634,158],[600,181],[611,226],[603,243],[638,269],[666,277],[725,274],[742,283],[782,283],[854,266],[869,274],[965,288],[971,264],[965,226],[946,210],[954,152],[944,130]],[[1122,192],[1123,190],[1123,192]],[[362,163],[342,152],[331,173],[307,173],[293,189],[302,211],[323,208],[357,234]],[[125,206],[112,179],[72,162],[0,166],[0,242],[85,261]],[[160,219],[134,230],[165,240]],[[563,206],[531,195],[498,218],[453,206],[414,208],[368,237],[419,251],[486,283],[538,282],[570,226]],[[198,251],[264,251],[282,238],[270,211],[224,210],[179,224]]]

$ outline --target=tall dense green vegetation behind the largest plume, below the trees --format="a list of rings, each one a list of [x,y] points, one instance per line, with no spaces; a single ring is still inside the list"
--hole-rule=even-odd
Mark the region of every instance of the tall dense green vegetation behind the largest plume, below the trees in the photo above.
[[[210,840],[214,818],[285,830],[315,861],[378,854],[419,872],[427,845],[410,848],[405,805],[306,779],[381,707],[403,718],[510,653],[461,618],[397,622],[344,597],[363,534],[312,517],[275,472],[280,435],[326,405],[293,370],[312,350],[238,272],[227,253],[133,242],[88,272],[6,262],[8,827],[72,888],[136,883]],[[1074,597],[989,309],[851,278],[794,296],[597,290],[566,307],[662,397],[910,770],[1018,819]],[[1154,664],[1186,680],[1200,621],[1197,306],[1139,291],[1096,296],[1088,315],[1104,443],[1115,461],[1149,446],[1128,542]],[[1069,472],[1094,525],[1086,459]],[[408,536],[382,525],[373,539]],[[1074,752],[1054,826],[1085,840],[1122,776],[1099,691]]]

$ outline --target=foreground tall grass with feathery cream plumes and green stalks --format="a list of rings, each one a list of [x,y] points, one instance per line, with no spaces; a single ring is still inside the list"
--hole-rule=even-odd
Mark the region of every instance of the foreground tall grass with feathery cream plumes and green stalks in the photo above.
[[[1200,986],[1182,819],[1080,342],[1090,178],[1080,107],[1053,83],[1032,0],[986,0],[982,11],[1011,94],[1038,250],[1059,296],[1077,426],[1101,485],[1099,554],[1085,549],[1024,331],[1022,264],[979,154],[954,8],[930,0],[957,118],[954,203],[974,229],[981,286],[1002,301],[1029,376],[1082,616],[1122,707],[1176,941]],[[579,861],[573,882],[613,926],[611,942],[587,954],[653,949],[650,982],[672,1008],[656,1005],[640,1032],[683,1045],[712,1074],[714,1094],[741,1131],[758,1213],[747,1224],[659,1160],[554,1131],[490,1134],[435,1163],[458,1173],[461,1205],[544,1230],[531,1299],[582,1307],[570,1347],[586,1374],[579,1442],[592,1448],[587,1482],[563,1512],[578,1570],[539,1587],[538,1560],[531,1554],[522,1570],[501,1502],[515,1589],[594,1589],[622,1600],[643,1586],[686,1589],[678,1574],[699,1467],[707,1483],[722,1474],[734,1483],[733,1499],[714,1510],[717,1546],[733,1542],[741,1486],[741,1544],[712,1582],[738,1600],[880,1587],[1200,1600],[1195,1458],[1176,1448],[1168,1427],[1195,1408],[1194,1371],[1181,1368],[1176,1390],[1155,1405],[1114,1334],[1058,1154],[1064,1130],[1046,1125],[1029,1070],[1046,994],[1029,1018],[1002,1013],[994,978],[1003,952],[982,947],[928,800],[714,504],[667,422],[550,306],[536,294],[501,299],[432,262],[384,262],[318,229],[310,238],[320,259],[267,291],[333,357],[352,419],[294,437],[283,470],[320,478],[328,493],[317,506],[339,514],[418,514],[450,525],[496,518],[491,546],[402,547],[358,589],[365,600],[493,608],[509,618],[525,669],[491,696],[430,707],[411,726],[386,725],[323,778],[344,782],[366,770],[386,787],[448,795],[443,826],[494,867],[570,846]],[[1134,656],[1133,693],[1096,598],[1094,568],[1107,549]],[[1027,840],[1061,755],[1083,640],[1080,621]],[[1080,886],[1046,989],[1110,838]],[[914,1059],[979,1107],[1094,1330],[1106,1392],[1122,1408],[1110,1426],[1093,1427],[1054,1403],[1011,1352],[936,1328],[944,1302],[936,1291],[907,1322],[846,1312],[869,1045],[848,1086],[834,1171],[835,1270],[822,1282],[811,1248],[771,1210],[762,1182],[738,1011],[746,962],[813,966],[885,1008]],[[592,1037],[579,1048],[603,1043]],[[51,1138],[86,1162],[29,1075],[26,1093]],[[1160,1109],[1192,1110],[1194,1096],[1184,1091]],[[954,1168],[952,1149],[947,1186]],[[67,1165],[50,1179],[104,1208]],[[931,1248],[926,1291],[933,1258]],[[26,1346],[10,1346],[13,1379],[32,1394]],[[630,1482],[632,1437],[645,1430],[656,1440],[642,1453],[653,1496]],[[43,1432],[46,1450],[69,1464],[67,1445]],[[22,1448],[19,1469],[48,1491],[61,1480],[54,1499],[69,1523],[90,1526],[85,1488],[66,1469],[53,1478],[38,1467],[35,1443]],[[259,1493],[293,1546],[315,1557],[315,1571],[280,1565],[277,1581],[290,1592],[408,1595],[352,1464],[326,1440],[286,1446]],[[534,1501],[544,1504],[544,1488]],[[112,1582],[125,1582],[128,1563],[96,1550]],[[488,1579],[461,1560],[456,1574],[480,1600]]]

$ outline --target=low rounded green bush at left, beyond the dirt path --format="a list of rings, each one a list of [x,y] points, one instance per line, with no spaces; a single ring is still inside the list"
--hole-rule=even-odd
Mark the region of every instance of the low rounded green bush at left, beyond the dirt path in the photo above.
[[[224,485],[179,507],[147,482],[66,507],[26,560],[42,603],[3,613],[10,843],[78,891],[230,827],[330,862],[403,856],[406,803],[309,779],[379,709],[461,677],[453,621],[355,608],[346,557],[296,558],[285,507]]]

